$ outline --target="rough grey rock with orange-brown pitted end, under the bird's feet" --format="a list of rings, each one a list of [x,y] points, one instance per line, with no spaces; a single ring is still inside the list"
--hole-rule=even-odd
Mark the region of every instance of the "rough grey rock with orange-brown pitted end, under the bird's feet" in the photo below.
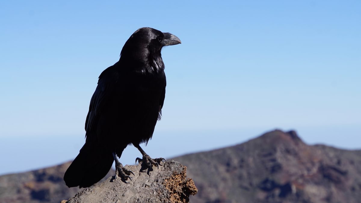
[[[132,181],[120,177],[114,181],[114,177],[110,177],[80,191],[68,203],[188,202],[189,196],[197,193],[193,181],[186,179],[186,167],[176,161],[162,162],[159,169],[153,166],[152,171],[140,164],[125,167],[134,172]]]

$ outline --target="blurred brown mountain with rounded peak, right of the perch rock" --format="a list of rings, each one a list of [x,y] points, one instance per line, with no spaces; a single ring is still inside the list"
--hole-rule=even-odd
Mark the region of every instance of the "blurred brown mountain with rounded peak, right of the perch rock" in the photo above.
[[[174,160],[199,189],[192,203],[361,202],[361,151],[309,146],[295,131]]]

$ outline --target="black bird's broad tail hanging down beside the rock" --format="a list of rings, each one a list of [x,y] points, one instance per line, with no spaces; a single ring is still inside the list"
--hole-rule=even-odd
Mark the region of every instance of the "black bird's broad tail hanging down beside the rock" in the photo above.
[[[109,172],[114,161],[113,154],[97,145],[92,142],[84,144],[64,174],[66,186],[89,187]]]

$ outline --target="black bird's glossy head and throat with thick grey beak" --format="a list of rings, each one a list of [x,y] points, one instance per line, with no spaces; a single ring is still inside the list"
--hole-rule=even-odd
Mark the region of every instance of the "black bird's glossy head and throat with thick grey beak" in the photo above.
[[[143,68],[149,71],[163,70],[162,47],[180,43],[181,40],[173,34],[162,33],[151,27],[142,27],[124,44],[120,60],[136,67],[142,64]]]

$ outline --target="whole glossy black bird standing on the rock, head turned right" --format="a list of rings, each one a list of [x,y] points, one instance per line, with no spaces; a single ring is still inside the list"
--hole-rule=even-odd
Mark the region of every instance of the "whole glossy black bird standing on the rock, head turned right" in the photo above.
[[[118,161],[133,144],[142,153],[137,158],[149,168],[163,158],[152,159],[139,146],[152,138],[162,115],[166,78],[161,49],[180,44],[173,34],[143,27],[135,31],[121,51],[120,59],[99,76],[85,121],[86,141],[64,174],[68,187],[89,187],[103,178],[116,162],[125,180],[130,170]]]

